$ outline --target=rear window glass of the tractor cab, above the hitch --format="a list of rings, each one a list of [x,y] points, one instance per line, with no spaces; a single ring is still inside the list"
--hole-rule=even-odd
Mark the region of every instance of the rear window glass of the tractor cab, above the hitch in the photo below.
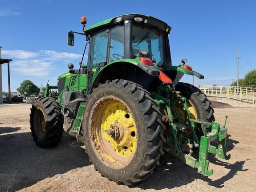
[[[146,50],[146,52],[142,52],[142,50]],[[152,60],[153,64],[162,65],[165,60],[164,50],[163,35],[150,29],[133,26],[131,51],[134,56],[147,57]]]

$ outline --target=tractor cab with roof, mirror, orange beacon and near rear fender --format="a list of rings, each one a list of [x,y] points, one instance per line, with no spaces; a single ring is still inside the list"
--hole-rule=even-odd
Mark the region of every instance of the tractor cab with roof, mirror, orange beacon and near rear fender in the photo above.
[[[168,34],[171,27],[152,16],[128,14],[113,17],[85,28],[89,41],[87,62],[87,94],[92,88],[110,79],[128,80],[143,88],[152,87],[159,79],[158,68],[171,67]],[[74,44],[74,34],[69,32],[68,44]],[[165,82],[171,82],[169,78]],[[155,87],[155,86],[154,86]]]

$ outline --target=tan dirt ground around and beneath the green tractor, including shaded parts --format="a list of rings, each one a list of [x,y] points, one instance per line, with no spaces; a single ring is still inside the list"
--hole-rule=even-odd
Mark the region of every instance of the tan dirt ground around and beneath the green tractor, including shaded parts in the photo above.
[[[230,160],[210,157],[213,176],[205,177],[165,154],[146,180],[131,187],[101,177],[85,150],[68,144],[38,148],[29,129],[31,105],[0,105],[0,192],[247,191],[256,189],[256,108],[214,103],[217,122],[228,115]]]

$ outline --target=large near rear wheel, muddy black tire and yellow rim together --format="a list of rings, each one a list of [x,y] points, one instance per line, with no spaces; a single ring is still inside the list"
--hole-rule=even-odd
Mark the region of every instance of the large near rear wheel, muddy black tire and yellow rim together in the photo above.
[[[145,179],[163,155],[164,125],[150,93],[127,80],[99,84],[85,106],[86,152],[102,176],[117,184]]]

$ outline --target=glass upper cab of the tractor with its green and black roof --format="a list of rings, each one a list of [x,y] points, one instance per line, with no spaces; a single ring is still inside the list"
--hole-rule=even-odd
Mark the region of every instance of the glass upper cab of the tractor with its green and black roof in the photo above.
[[[88,66],[98,70],[111,62],[137,57],[148,58],[157,66],[171,65],[170,31],[163,21],[140,14],[118,16],[84,28],[90,42]]]

